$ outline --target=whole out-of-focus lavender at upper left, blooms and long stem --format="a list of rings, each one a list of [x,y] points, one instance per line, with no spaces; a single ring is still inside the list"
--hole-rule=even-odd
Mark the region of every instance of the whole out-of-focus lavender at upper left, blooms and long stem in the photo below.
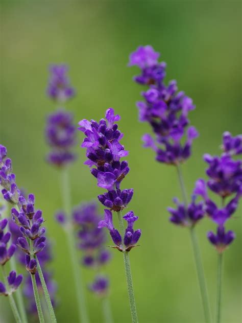
[[[54,100],[58,109],[47,118],[45,136],[51,151],[47,155],[47,162],[60,169],[61,194],[63,207],[67,215],[64,226],[68,242],[69,255],[71,258],[72,274],[75,280],[75,290],[79,320],[88,322],[85,294],[82,282],[82,274],[78,270],[78,257],[76,255],[74,227],[71,220],[71,201],[68,165],[74,162],[76,155],[73,148],[76,144],[76,127],[73,115],[60,108],[67,100],[75,95],[75,90],[70,86],[67,77],[68,67],[66,65],[53,65],[50,67],[50,80],[47,87],[47,95]]]

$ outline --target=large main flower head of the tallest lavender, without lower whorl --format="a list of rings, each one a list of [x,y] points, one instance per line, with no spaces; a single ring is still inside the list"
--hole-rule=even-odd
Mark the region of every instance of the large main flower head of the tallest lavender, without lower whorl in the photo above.
[[[177,165],[190,156],[192,141],[198,136],[195,127],[188,127],[188,112],[195,105],[183,91],[178,92],[175,80],[164,84],[166,64],[158,62],[159,56],[150,45],[141,46],[131,53],[129,66],[141,69],[134,78],[137,83],[149,85],[142,93],[144,101],[137,102],[139,120],[148,122],[155,133],[155,139],[143,136],[144,147],[156,152],[158,162]]]

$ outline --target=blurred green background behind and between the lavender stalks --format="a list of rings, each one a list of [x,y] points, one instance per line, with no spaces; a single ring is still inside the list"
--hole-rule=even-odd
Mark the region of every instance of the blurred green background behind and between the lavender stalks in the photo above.
[[[241,132],[241,3],[240,1],[3,1],[1,2],[1,144],[13,160],[17,183],[36,195],[53,241],[50,265],[58,282],[59,322],[77,322],[74,282],[62,229],[53,214],[61,208],[59,173],[47,165],[44,141],[46,115],[55,104],[45,96],[50,63],[67,63],[77,90],[68,109],[75,120],[103,118],[113,107],[122,116],[119,127],[130,151],[130,173],[123,188],[134,188],[128,209],[139,216],[141,247],[131,256],[140,322],[203,322],[192,250],[186,229],[168,222],[166,207],[181,197],[176,170],[158,164],[141,145],[147,124],[138,122],[135,102],[143,90],[132,81],[128,56],[140,44],[151,44],[167,62],[167,78],[193,99],[190,113],[200,132],[193,155],[183,166],[189,194],[205,177],[205,152],[219,154],[222,132]],[[83,140],[78,133],[78,141]],[[74,205],[95,199],[102,189],[83,165],[85,151],[71,167]],[[239,212],[240,211],[240,212]],[[241,207],[228,222],[236,240],[226,251],[223,322],[241,321]],[[100,212],[103,207],[100,204]],[[216,252],[206,239],[214,224],[197,227],[208,291],[214,314]],[[106,271],[111,279],[115,322],[129,322],[123,257],[116,250]],[[93,277],[84,270],[85,282]],[[102,321],[99,299],[86,290],[92,322]],[[1,297],[1,322],[12,322],[8,300]]]

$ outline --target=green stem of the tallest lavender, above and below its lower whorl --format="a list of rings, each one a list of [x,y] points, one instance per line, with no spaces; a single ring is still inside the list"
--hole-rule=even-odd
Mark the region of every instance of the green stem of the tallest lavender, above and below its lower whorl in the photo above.
[[[178,172],[179,182],[180,182],[180,186],[181,186],[183,201],[184,201],[185,206],[187,206],[188,205],[187,194],[186,194],[185,184],[184,184],[180,165],[177,165],[177,172]],[[211,314],[210,314],[210,306],[209,306],[209,301],[208,301],[206,279],[205,279],[205,275],[204,275],[203,262],[202,262],[202,257],[201,257],[201,253],[200,253],[200,248],[199,248],[199,243],[198,243],[195,227],[190,228],[190,238],[191,238],[193,256],[194,256],[196,269],[197,269],[200,293],[201,293],[202,304],[203,304],[204,317],[205,317],[206,322],[210,323],[211,322]]]

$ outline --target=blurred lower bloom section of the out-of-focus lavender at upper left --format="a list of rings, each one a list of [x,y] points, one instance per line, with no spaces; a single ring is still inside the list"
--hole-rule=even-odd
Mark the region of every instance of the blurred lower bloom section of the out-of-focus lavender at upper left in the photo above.
[[[72,113],[59,109],[47,118],[46,141],[51,147],[47,161],[63,167],[76,159],[72,148],[76,145],[76,127]]]

